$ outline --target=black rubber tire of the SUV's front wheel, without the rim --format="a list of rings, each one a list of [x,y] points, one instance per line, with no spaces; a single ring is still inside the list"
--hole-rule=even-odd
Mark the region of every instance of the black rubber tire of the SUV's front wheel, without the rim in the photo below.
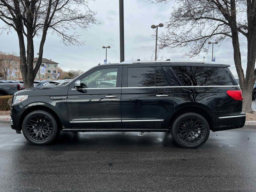
[[[28,120],[34,116],[34,115],[43,115],[46,116],[51,122],[52,122],[52,134],[51,136],[45,140],[45,141],[35,141],[32,140],[32,138],[30,138],[30,136],[28,135],[27,131],[26,131],[26,124],[28,122]],[[57,122],[54,119],[54,117],[46,112],[46,111],[42,111],[42,110],[37,110],[37,111],[33,111],[31,113],[29,113],[23,120],[22,123],[22,133],[24,135],[24,137],[26,138],[26,140],[28,140],[30,143],[35,144],[35,145],[46,145],[49,144],[50,142],[52,142],[54,140],[54,138],[57,136],[58,134],[58,126],[57,126]]]

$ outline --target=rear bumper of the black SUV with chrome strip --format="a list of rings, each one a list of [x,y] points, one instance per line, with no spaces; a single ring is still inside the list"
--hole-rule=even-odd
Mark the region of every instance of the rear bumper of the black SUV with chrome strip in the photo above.
[[[245,124],[246,115],[241,112],[238,115],[220,116],[216,118],[212,131],[222,131],[241,128]]]

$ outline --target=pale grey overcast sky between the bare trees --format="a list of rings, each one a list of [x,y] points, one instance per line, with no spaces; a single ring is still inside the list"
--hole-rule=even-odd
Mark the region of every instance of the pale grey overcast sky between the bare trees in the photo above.
[[[101,24],[94,25],[87,31],[77,28],[77,33],[82,35],[82,40],[86,41],[85,46],[64,46],[60,38],[48,33],[44,45],[44,58],[52,59],[59,63],[64,70],[88,70],[89,68],[103,64],[105,50],[102,46],[111,46],[108,49],[108,61],[117,63],[120,61],[119,52],[119,1],[118,0],[96,0],[89,4],[90,9],[97,12],[96,18]],[[150,58],[154,53],[155,41],[152,37],[154,30],[150,28],[152,24],[164,23],[170,18],[173,2],[168,4],[150,4],[147,0],[125,0],[124,1],[124,36],[125,36],[125,60],[140,58]],[[2,22],[0,22],[2,25]],[[159,28],[159,33],[165,28]],[[214,39],[213,39],[214,41]],[[34,40],[35,53],[38,52],[39,39]],[[241,39],[240,42],[245,42]],[[230,70],[236,75],[233,60],[233,49],[231,40],[222,44],[214,45],[214,56],[216,62],[230,64]],[[18,38],[15,32],[0,35],[0,50],[4,52],[15,51],[19,54]],[[188,60],[183,57],[189,48],[164,49],[160,55],[164,60]],[[211,60],[211,48],[208,54],[202,53],[200,56],[190,60]],[[242,63],[246,63],[246,45],[241,47]],[[245,70],[245,68],[244,68]]]

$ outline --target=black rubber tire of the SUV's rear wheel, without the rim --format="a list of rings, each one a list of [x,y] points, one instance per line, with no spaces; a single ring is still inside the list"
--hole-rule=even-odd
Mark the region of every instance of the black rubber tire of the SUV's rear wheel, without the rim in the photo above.
[[[177,128],[178,128],[178,125],[180,124],[180,121],[183,120],[184,118],[189,118],[189,117],[198,118],[204,124],[204,126],[206,128],[204,138],[198,144],[194,144],[194,145],[185,144],[178,137]],[[197,114],[197,113],[185,113],[185,114],[182,114],[182,115],[178,116],[178,118],[176,118],[176,120],[172,124],[171,132],[172,132],[172,137],[174,138],[175,142],[179,146],[182,146],[184,148],[198,148],[198,147],[202,146],[208,140],[208,137],[209,137],[209,134],[210,134],[210,127],[209,127],[209,124],[208,124],[207,120],[203,116],[201,116],[200,114]]]

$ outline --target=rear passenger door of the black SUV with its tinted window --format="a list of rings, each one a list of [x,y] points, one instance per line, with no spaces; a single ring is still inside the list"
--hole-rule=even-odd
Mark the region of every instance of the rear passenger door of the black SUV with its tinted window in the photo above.
[[[173,113],[173,91],[161,65],[124,66],[122,123],[127,129],[166,129]]]

